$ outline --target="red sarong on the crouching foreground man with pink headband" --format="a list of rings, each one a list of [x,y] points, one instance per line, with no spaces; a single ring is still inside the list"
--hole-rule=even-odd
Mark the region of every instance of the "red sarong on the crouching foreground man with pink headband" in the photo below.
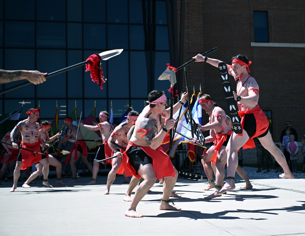
[[[129,163],[127,151],[131,146],[142,148],[143,151],[146,152],[146,154],[152,158],[152,165],[153,165],[153,169],[156,173],[157,179],[161,179],[161,178],[167,177],[167,176],[173,176],[173,177],[175,176],[175,169],[174,169],[173,164],[170,161],[170,157],[165,152],[163,152],[163,150],[160,146],[156,150],[154,150],[150,147],[138,146],[130,141],[126,147],[126,155],[123,156],[125,158],[122,157],[126,176],[131,176],[131,175],[129,175],[131,173],[132,175],[134,175],[137,178],[141,177],[140,175],[136,174],[135,169]],[[127,172],[127,170],[129,170],[129,171]]]

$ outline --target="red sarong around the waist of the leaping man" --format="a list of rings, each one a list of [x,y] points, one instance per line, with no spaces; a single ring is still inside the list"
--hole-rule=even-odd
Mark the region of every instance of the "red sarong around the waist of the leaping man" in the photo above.
[[[241,117],[240,124],[242,126],[242,129],[244,127],[245,114],[254,114],[256,120],[256,131],[254,132],[253,136],[250,137],[249,140],[242,146],[242,148],[243,149],[255,148],[253,138],[260,136],[261,134],[264,134],[267,131],[269,127],[269,120],[267,116],[264,114],[263,110],[260,109],[259,105],[256,105],[251,110],[247,108],[246,111],[238,112],[238,115]],[[242,133],[237,135],[242,135]]]

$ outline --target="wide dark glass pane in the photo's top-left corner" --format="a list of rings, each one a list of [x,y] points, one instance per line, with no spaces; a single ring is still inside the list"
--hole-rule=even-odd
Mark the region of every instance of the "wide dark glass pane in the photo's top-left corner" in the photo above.
[[[34,20],[35,6],[34,0],[6,0],[5,1],[5,19],[10,20]],[[1,3],[2,11],[3,4]]]

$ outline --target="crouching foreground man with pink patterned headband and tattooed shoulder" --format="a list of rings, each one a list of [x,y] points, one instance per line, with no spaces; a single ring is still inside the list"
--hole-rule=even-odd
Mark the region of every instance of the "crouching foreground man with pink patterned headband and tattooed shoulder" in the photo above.
[[[181,95],[179,103],[173,105],[173,113],[176,113],[187,100],[187,93]],[[130,137],[126,155],[126,166],[136,177],[142,177],[144,181],[135,191],[135,196],[125,212],[125,216],[143,217],[136,212],[136,207],[157,179],[165,177],[163,195],[160,210],[180,210],[169,205],[170,194],[178,178],[178,171],[174,168],[169,156],[160,147],[167,131],[176,125],[174,119],[168,119],[161,131],[161,119],[170,117],[170,108],[167,106],[167,98],[163,91],[151,91],[148,94],[149,105],[138,116],[128,136]],[[129,138],[128,137],[128,138]],[[124,156],[123,156],[124,158]]]

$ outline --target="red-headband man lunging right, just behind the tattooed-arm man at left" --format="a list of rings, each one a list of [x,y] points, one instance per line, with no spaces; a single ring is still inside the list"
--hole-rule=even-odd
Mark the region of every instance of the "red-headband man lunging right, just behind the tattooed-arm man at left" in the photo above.
[[[40,134],[41,140],[44,141],[45,143],[51,143],[55,138],[60,136],[60,133],[57,133],[53,137],[50,138],[49,133],[48,133],[50,128],[51,128],[51,123],[48,122],[47,120],[41,122],[39,134]],[[41,147],[41,145],[40,145],[40,152],[44,153],[44,150],[45,149],[43,147]],[[50,154],[44,154],[44,155],[41,154],[41,159],[44,159],[44,158],[48,159],[50,166],[56,167],[56,177],[57,177],[56,184],[66,185],[61,180],[62,164],[54,156],[52,156]],[[22,185],[23,188],[30,188],[30,185],[29,185],[30,182],[33,181],[34,179],[36,179],[42,173],[43,166],[40,162],[35,163],[35,167],[37,170],[30,175],[30,177],[27,179],[27,181],[24,182],[24,184]]]

